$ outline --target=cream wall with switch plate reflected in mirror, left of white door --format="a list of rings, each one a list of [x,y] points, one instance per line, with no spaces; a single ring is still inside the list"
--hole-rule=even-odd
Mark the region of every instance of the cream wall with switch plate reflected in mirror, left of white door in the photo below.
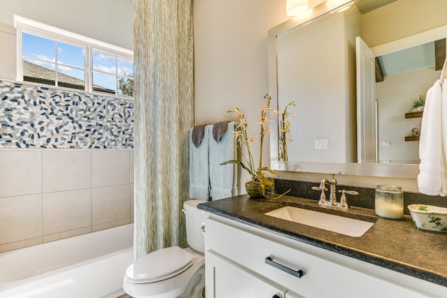
[[[293,139],[288,144],[290,161],[357,161],[353,158],[356,152],[350,156],[351,149],[356,148],[355,133],[347,133],[356,125],[355,118],[350,118],[346,107],[351,104],[356,109],[356,64],[352,61],[359,35],[360,14],[352,9],[325,15],[318,22],[278,36],[279,110],[295,100],[290,112],[298,114],[289,119]],[[316,149],[318,139],[328,140],[329,147]]]

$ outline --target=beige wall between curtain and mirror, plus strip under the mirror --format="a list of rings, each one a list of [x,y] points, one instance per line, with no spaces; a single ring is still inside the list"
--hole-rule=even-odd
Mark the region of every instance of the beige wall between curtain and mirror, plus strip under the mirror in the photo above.
[[[258,131],[258,111],[268,91],[267,31],[286,20],[286,0],[194,1],[196,125],[230,119],[226,110],[238,106],[247,114],[249,129]],[[264,164],[269,162],[269,150],[265,146]],[[258,151],[254,154],[258,156]],[[242,174],[241,181],[247,181],[247,174]],[[305,181],[328,178],[328,174],[279,174]],[[337,181],[369,187],[397,184],[405,191],[418,190],[416,179],[338,175]]]

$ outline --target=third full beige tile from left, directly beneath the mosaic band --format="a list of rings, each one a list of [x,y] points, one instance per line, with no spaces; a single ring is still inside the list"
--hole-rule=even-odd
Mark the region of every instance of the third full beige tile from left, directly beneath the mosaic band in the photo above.
[[[91,187],[129,184],[129,150],[91,151]]]

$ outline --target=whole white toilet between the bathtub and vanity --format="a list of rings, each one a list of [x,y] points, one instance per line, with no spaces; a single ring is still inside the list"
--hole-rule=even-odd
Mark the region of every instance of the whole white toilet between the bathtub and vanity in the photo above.
[[[133,262],[126,270],[123,290],[131,297],[201,298],[205,288],[205,212],[203,200],[183,204],[188,248],[162,248]]]

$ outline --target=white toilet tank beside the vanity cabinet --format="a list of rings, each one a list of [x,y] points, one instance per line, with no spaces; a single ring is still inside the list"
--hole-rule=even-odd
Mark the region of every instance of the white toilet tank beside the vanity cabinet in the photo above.
[[[186,241],[194,251],[205,253],[205,234],[202,225],[205,225],[205,211],[197,209],[197,204],[203,200],[187,200],[183,203],[186,218]]]

